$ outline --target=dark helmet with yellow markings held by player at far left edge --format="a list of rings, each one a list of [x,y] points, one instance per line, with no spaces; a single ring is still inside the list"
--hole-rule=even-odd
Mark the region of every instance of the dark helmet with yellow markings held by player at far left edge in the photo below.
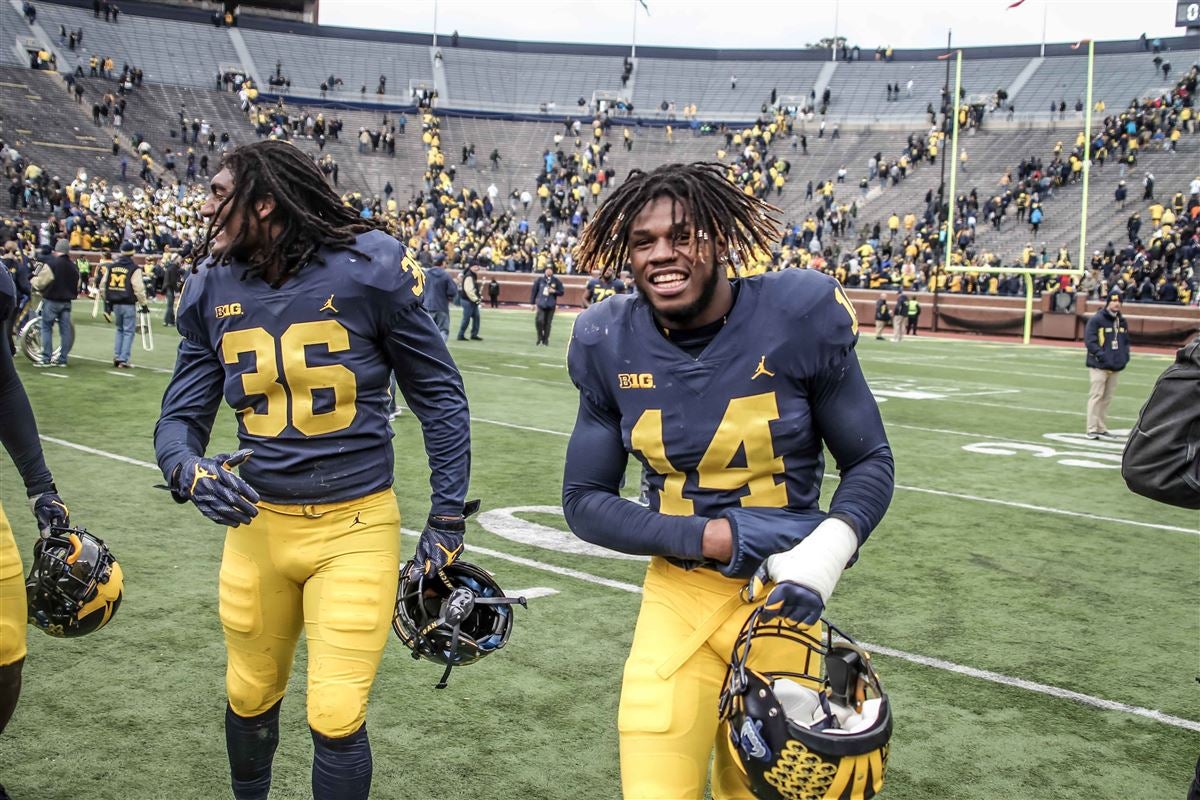
[[[56,637],[91,633],[116,614],[124,588],[121,565],[104,542],[83,528],[53,527],[34,545],[29,624]]]

